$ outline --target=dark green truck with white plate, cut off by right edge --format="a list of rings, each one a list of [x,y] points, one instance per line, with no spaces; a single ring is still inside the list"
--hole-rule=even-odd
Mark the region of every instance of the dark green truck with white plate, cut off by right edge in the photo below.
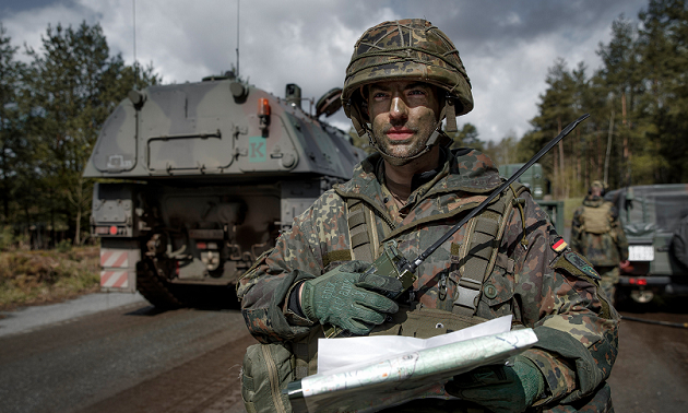
[[[672,253],[674,232],[688,215],[688,184],[631,186],[604,198],[618,208],[629,244],[620,299],[649,303],[657,294],[688,294],[688,269]]]

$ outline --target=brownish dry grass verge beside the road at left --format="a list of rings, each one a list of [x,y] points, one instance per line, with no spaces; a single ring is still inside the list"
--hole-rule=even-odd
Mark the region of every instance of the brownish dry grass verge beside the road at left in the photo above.
[[[98,247],[0,252],[0,309],[62,302],[100,288]]]

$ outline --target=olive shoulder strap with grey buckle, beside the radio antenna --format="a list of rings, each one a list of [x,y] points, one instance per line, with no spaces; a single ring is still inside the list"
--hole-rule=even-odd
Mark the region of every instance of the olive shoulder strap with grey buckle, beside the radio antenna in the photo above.
[[[496,202],[468,221],[465,241],[455,251],[452,250],[452,255],[458,256],[461,275],[452,312],[475,315],[483,283],[495,268],[499,244],[513,206],[520,206],[518,197],[525,190],[526,187],[513,184]]]

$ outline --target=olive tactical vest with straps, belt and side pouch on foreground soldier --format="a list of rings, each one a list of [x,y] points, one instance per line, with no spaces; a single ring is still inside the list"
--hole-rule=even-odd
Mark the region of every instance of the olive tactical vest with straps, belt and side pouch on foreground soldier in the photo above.
[[[427,339],[487,321],[475,316],[475,312],[483,294],[483,284],[495,266],[509,267],[509,260],[498,250],[514,210],[520,212],[523,223],[521,243],[526,244],[523,199],[518,198],[525,190],[526,187],[513,184],[466,223],[464,243],[461,246],[452,245],[451,263],[458,268],[461,276],[451,312],[419,305],[400,305],[400,310],[377,326],[370,335]],[[392,228],[385,226],[379,234],[375,211],[366,202],[353,198],[345,201],[351,250],[348,253],[336,251],[336,257],[324,257],[323,261],[355,259],[372,262],[381,253],[380,243],[392,233]],[[321,338],[324,338],[323,329],[315,328],[307,337],[293,343],[254,344],[247,350],[241,394],[249,413],[292,412],[290,402],[282,390],[289,381],[318,373],[318,340]]]

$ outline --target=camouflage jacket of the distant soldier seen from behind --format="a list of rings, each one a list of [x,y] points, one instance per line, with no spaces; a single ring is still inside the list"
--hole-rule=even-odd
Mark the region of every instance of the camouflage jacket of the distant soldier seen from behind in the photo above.
[[[584,211],[588,208],[601,208],[608,203],[603,198],[588,196],[583,204],[573,212],[571,223],[571,248],[588,258],[595,267],[615,267],[628,259],[628,240],[619,222],[619,213],[616,206],[610,205],[607,220],[609,232],[593,234],[585,231]]]

